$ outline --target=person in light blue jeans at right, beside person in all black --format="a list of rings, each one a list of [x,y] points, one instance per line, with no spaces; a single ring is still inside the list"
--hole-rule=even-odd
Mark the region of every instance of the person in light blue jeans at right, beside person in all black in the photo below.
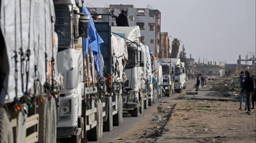
[[[240,72],[240,76],[237,77],[237,80],[236,80],[236,84],[239,84],[240,83],[240,90],[242,90],[242,88],[244,87],[244,81],[245,81],[245,74],[243,71]],[[242,103],[243,103],[243,97],[245,98],[245,110],[247,110],[247,102],[246,102],[246,90],[244,90],[244,92],[242,92],[242,94],[240,95],[240,110],[242,109]]]

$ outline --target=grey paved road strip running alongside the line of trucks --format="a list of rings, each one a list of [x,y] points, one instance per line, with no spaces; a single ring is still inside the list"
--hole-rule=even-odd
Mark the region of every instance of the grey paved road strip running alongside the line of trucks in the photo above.
[[[194,84],[196,83],[196,80],[188,80],[186,81],[186,90],[183,90],[183,92],[186,92],[187,90],[193,88]],[[153,104],[153,106],[149,106],[148,109],[144,110],[142,114],[140,114],[139,117],[131,117],[128,115],[123,116],[123,123],[120,126],[114,126],[112,131],[110,132],[103,132],[103,137],[100,139],[100,141],[94,141],[89,143],[111,143],[115,142],[116,138],[122,133],[125,133],[135,122],[143,122],[143,115],[152,113],[152,110],[155,109],[161,101],[167,101],[170,102],[173,98],[177,98],[180,94],[174,94],[174,96],[171,97],[162,97],[159,100],[156,100],[156,104]]]

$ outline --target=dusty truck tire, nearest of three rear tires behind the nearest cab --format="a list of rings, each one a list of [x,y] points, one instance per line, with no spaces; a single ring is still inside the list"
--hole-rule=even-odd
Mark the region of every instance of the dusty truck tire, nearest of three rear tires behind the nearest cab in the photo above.
[[[97,125],[87,131],[88,141],[98,141],[103,134],[103,118],[102,118],[102,102],[96,101],[97,113],[95,118],[97,119]]]

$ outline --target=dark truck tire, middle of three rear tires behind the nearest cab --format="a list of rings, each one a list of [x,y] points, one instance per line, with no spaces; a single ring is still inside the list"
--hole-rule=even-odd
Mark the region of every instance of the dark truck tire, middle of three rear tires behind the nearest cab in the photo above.
[[[108,114],[106,114],[107,120],[103,122],[103,131],[111,131],[113,129],[113,106],[112,106],[112,97],[105,97],[105,101],[108,102]]]

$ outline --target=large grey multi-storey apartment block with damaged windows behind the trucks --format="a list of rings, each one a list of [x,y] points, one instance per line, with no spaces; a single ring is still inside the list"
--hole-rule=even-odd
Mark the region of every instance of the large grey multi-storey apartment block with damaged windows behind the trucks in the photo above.
[[[112,14],[112,26],[116,26],[116,17],[125,10],[128,17],[129,26],[138,25],[140,27],[141,41],[149,47],[156,57],[160,55],[160,27],[161,27],[161,12],[159,10],[151,10],[149,8],[135,8],[134,5],[113,5],[109,8],[88,8],[91,14]],[[104,18],[99,16],[98,20],[104,21]]]

